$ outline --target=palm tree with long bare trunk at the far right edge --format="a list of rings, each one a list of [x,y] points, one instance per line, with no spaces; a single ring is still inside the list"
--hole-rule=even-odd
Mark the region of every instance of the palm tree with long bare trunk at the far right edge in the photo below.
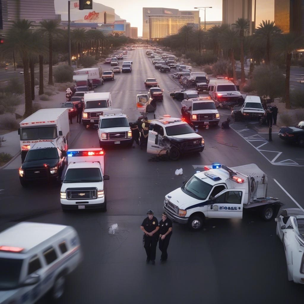
[[[282,34],[277,40],[278,52],[285,56],[286,79],[285,79],[285,108],[290,109],[289,85],[290,85],[290,66],[291,57],[294,50],[304,47],[304,37],[297,33]]]

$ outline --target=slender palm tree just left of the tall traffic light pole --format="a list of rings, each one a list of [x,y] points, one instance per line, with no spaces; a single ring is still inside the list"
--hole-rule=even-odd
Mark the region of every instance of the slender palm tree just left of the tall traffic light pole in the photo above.
[[[49,85],[53,85],[53,38],[62,34],[62,30],[58,28],[60,21],[57,20],[43,20],[40,24],[40,32],[46,34],[49,39]]]

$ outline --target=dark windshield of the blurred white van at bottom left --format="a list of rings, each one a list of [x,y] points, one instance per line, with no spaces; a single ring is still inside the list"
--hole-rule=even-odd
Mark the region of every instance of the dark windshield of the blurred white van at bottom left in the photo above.
[[[0,258],[0,290],[16,288],[23,260]]]

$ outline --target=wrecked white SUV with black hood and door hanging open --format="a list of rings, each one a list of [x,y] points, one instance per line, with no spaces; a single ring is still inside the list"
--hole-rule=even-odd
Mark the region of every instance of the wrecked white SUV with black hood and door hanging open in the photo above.
[[[167,155],[176,161],[182,154],[202,152],[205,142],[202,136],[180,118],[165,115],[149,121],[147,153]]]

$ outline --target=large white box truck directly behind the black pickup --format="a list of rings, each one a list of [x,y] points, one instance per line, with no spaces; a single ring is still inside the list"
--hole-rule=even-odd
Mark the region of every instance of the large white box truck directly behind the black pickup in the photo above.
[[[23,119],[18,129],[22,163],[35,143],[50,141],[62,151],[68,147],[70,134],[67,108],[41,109]]]

